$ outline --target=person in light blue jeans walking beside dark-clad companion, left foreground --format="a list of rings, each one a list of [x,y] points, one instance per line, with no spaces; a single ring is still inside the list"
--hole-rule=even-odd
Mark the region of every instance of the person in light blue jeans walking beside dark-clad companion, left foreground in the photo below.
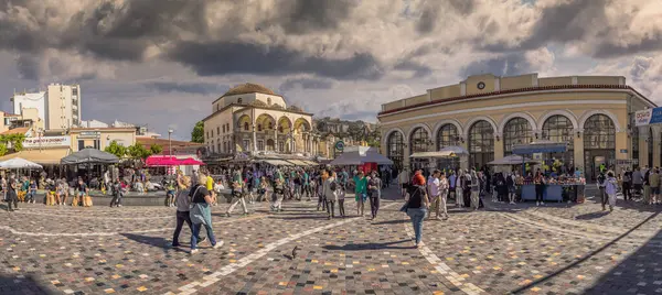
[[[214,229],[212,228],[212,196],[206,189],[206,177],[204,176],[200,175],[197,177],[197,185],[192,187],[189,194],[192,204],[189,212],[192,223],[191,254],[197,253],[197,237],[200,237],[200,229],[202,227],[205,228],[207,239],[214,249],[223,245],[223,241],[216,242],[214,237]]]

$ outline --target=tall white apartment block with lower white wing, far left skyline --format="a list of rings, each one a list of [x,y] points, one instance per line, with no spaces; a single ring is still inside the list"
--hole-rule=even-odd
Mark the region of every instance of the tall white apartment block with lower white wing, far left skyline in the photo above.
[[[38,110],[45,130],[65,130],[81,123],[81,86],[51,84],[46,91],[14,94],[13,111],[21,114],[25,108]]]

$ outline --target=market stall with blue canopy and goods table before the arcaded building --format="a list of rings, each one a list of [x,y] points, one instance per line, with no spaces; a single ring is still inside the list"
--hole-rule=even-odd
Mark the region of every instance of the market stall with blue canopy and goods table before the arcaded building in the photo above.
[[[530,144],[519,144],[513,148],[515,155],[533,155],[548,153],[564,153],[567,151],[567,144],[560,142],[538,141]],[[522,157],[524,160],[524,157]],[[524,161],[522,162],[522,175],[526,175]],[[543,200],[580,201],[584,199],[585,179],[575,175],[558,175],[547,173],[545,175],[545,190]],[[533,177],[525,176],[519,184],[522,187],[522,200],[535,200],[535,184]]]

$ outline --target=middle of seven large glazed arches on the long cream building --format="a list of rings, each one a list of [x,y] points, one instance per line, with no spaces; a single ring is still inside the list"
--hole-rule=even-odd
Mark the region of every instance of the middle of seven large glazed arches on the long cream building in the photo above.
[[[469,165],[480,168],[494,161],[494,129],[484,120],[469,129]]]

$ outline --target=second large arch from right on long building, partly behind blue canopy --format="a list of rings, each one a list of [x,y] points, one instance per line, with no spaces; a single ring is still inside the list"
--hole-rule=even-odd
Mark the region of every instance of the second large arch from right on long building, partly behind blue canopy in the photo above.
[[[553,142],[563,142],[567,144],[567,151],[565,153],[549,153],[545,155],[545,159],[558,159],[566,167],[573,167],[575,165],[575,136],[573,136],[574,130],[573,122],[570,119],[563,114],[554,114],[543,123],[543,139]]]

